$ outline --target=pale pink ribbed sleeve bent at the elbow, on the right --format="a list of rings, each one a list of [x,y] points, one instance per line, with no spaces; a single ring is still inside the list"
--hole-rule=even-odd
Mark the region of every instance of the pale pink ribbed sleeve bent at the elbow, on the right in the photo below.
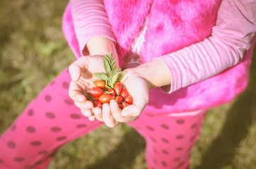
[[[255,35],[255,9],[255,0],[223,0],[209,38],[158,58],[171,76],[171,85],[162,89],[171,93],[237,64]]]

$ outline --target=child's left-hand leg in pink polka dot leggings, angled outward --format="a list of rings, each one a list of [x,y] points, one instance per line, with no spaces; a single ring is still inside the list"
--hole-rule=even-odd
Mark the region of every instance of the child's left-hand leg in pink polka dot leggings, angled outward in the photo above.
[[[65,69],[0,137],[0,168],[45,168],[60,146],[102,123],[89,121],[69,99]]]

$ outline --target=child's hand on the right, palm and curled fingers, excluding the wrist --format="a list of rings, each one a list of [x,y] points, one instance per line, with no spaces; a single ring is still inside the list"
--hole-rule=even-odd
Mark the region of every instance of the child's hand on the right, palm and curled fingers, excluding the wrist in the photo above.
[[[144,107],[149,102],[149,85],[147,80],[136,72],[136,68],[124,70],[127,74],[122,80],[134,103],[121,110],[117,101],[111,100],[110,104],[103,104],[103,108],[93,108],[95,118],[102,121],[108,127],[115,127],[118,123],[134,121],[139,117]]]

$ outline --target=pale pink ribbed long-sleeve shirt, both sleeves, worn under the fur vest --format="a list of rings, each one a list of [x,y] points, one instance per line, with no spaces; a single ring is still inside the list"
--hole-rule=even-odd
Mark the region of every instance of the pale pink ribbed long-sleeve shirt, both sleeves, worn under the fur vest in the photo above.
[[[170,70],[174,92],[237,64],[256,32],[255,0],[223,0],[211,36],[197,44],[159,57]],[[71,0],[74,28],[81,54],[88,39],[103,36],[115,42],[103,0]],[[203,71],[202,71],[203,70]]]

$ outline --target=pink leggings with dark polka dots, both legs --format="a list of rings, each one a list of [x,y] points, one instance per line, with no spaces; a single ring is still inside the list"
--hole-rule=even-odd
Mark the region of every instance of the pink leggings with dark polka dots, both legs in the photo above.
[[[81,115],[68,96],[70,80],[65,69],[0,137],[1,169],[46,168],[60,146],[103,124]],[[148,168],[187,168],[205,111],[151,114],[128,123],[146,139]]]

